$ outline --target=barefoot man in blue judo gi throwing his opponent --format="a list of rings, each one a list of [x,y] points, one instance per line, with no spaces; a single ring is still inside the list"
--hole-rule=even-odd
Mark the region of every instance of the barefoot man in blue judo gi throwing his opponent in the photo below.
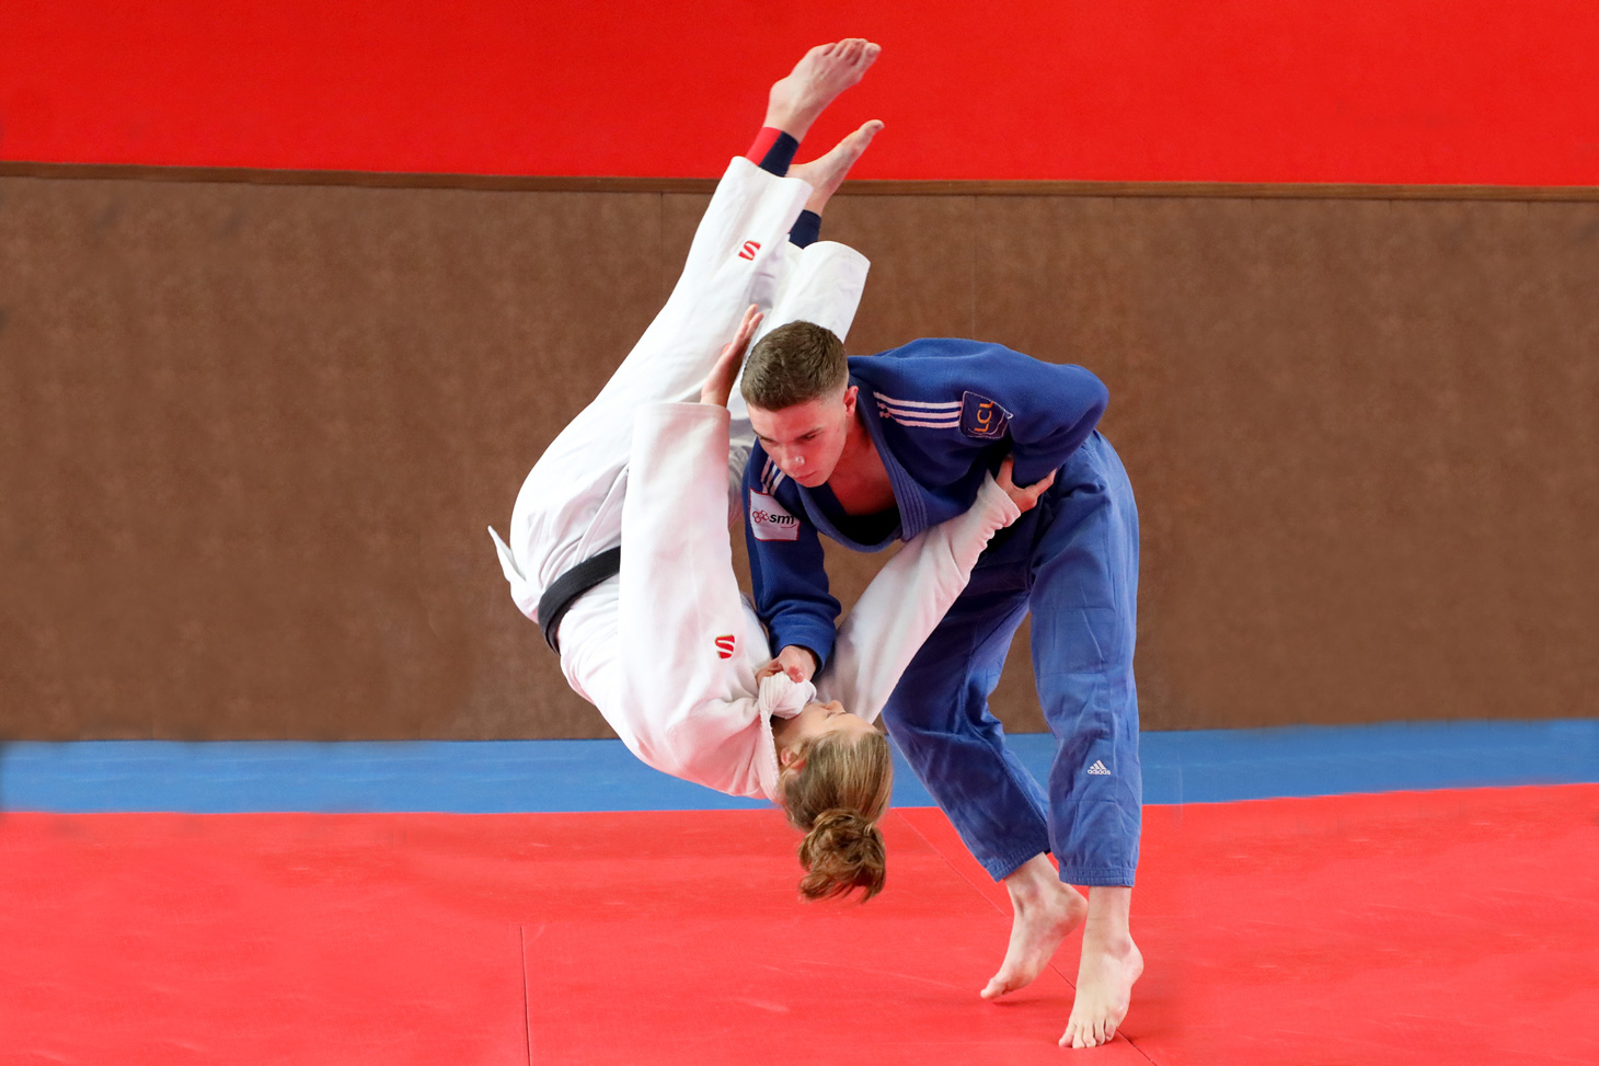
[[[827,664],[839,610],[820,533],[855,551],[913,538],[972,506],[1012,453],[1019,485],[1054,479],[983,552],[883,717],[1011,893],[1011,943],[982,996],[1030,983],[1086,922],[1060,1044],[1110,1040],[1143,959],[1127,927],[1142,800],[1138,517],[1121,459],[1095,431],[1105,386],[1081,367],[977,341],[846,359],[830,331],[795,322],[755,347],[742,392],[758,439],[744,479],[756,610],[796,680]],[[1047,792],[988,711],[1030,611],[1038,695],[1057,739]],[[1089,887],[1087,900],[1071,885]]]

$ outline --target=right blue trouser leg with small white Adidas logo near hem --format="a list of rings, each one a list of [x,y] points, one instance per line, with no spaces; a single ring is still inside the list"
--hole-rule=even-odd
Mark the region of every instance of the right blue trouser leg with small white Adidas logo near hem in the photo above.
[[[1138,511],[1110,443],[1095,434],[1039,501],[1031,555],[1033,675],[1055,736],[1049,842],[1060,879],[1130,885],[1138,866]]]

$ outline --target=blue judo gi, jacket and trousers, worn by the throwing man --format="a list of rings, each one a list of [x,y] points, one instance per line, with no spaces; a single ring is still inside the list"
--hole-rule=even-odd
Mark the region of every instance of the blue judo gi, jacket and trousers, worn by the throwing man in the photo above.
[[[744,475],[745,533],[772,647],[811,648],[823,669],[833,650],[839,605],[819,533],[881,551],[971,507],[983,474],[1007,455],[1017,485],[1059,471],[1038,506],[990,543],[883,717],[996,880],[1054,852],[1067,884],[1132,885],[1143,797],[1132,675],[1138,512],[1121,459],[1095,431],[1105,386],[1081,367],[943,338],[851,357],[849,379],[897,506],[847,515],[827,485],[796,485],[756,443]],[[1028,611],[1038,696],[1057,743],[1047,795],[988,711]]]

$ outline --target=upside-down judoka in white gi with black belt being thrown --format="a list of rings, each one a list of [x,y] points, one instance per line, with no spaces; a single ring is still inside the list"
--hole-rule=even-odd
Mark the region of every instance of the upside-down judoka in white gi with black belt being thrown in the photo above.
[[[665,307],[532,467],[507,539],[489,530],[516,607],[572,690],[651,767],[782,805],[806,834],[807,898],[883,887],[876,823],[892,762],[871,722],[988,539],[1049,483],[1019,490],[1004,464],[969,511],[907,543],[814,685],[772,659],[739,594],[729,501],[753,434],[729,394],[764,323],[849,330],[867,261],[817,240],[820,213],[883,123],[790,162],[878,51],[860,38],[822,45],[772,86],[752,158],[729,163]]]

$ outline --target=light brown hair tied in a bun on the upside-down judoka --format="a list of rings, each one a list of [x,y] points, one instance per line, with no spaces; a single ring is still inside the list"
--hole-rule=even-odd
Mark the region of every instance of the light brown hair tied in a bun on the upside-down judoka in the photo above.
[[[788,824],[806,834],[800,864],[806,900],[847,896],[865,903],[883,890],[887,855],[878,820],[894,791],[894,759],[883,733],[827,733],[800,747],[804,765],[779,786]]]

